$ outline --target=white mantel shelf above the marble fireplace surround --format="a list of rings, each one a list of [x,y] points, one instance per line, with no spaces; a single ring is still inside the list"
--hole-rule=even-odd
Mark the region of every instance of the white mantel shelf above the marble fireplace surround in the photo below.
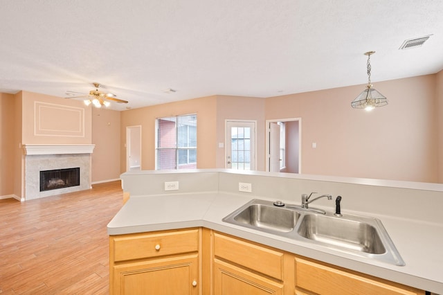
[[[24,154],[92,154],[96,145],[23,145]]]

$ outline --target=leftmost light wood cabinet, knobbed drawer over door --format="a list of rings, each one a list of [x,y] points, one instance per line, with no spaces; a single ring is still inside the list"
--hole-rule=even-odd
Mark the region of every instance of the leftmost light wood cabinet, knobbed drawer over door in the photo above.
[[[200,229],[109,238],[111,294],[199,294]]]

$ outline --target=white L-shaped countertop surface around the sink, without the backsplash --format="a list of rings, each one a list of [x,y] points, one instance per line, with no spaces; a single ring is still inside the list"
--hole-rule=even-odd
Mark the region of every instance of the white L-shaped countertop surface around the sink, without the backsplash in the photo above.
[[[443,294],[442,224],[370,215],[381,220],[406,262],[400,267],[221,221],[254,198],[241,193],[221,192],[134,196],[109,222],[108,233],[119,235],[204,226],[300,256]],[[326,209],[330,211],[330,208]],[[346,211],[343,210],[343,213]]]

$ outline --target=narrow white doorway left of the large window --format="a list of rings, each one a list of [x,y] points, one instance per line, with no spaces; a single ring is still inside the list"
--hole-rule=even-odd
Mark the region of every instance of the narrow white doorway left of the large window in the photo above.
[[[141,126],[126,127],[126,170],[141,170]]]

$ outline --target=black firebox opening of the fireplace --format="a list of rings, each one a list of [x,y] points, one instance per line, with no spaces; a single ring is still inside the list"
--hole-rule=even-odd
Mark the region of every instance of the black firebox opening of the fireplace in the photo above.
[[[40,171],[40,191],[80,186],[80,168]]]

